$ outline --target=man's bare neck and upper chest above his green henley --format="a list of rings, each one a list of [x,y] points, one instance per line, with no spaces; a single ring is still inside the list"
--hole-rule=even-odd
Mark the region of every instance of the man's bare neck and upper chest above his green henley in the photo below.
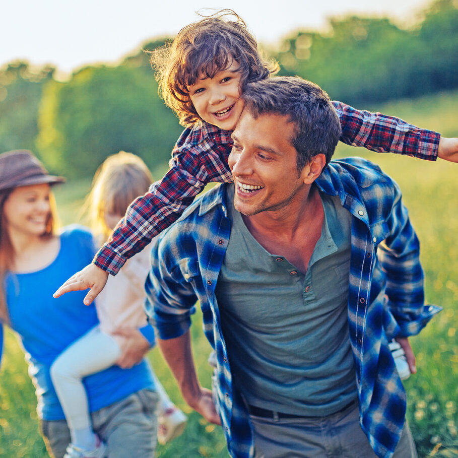
[[[258,241],[272,254],[285,256],[305,273],[313,249],[321,235],[324,211],[318,189],[311,186],[303,201],[295,201],[280,211],[265,211],[243,221]]]

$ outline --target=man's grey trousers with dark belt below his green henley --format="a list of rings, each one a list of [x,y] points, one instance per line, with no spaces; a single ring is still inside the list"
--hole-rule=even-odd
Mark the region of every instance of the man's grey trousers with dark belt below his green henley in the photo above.
[[[327,417],[275,421],[250,415],[255,458],[377,458],[359,425],[355,404]],[[393,458],[417,458],[407,423]]]

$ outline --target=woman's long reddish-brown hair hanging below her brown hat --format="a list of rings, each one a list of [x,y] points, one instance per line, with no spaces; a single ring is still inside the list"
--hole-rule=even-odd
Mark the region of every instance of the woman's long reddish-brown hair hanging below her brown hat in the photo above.
[[[7,230],[7,222],[4,213],[5,202],[10,197],[13,189],[0,191],[0,322],[10,322],[8,306],[5,297],[5,277],[14,268],[15,250],[11,243],[10,235]],[[46,229],[41,235],[42,238],[49,238],[55,234],[58,218],[54,195],[49,194],[50,212],[46,221]]]

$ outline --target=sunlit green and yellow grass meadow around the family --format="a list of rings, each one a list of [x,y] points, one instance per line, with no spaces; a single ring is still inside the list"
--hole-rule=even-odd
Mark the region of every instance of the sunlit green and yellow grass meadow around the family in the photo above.
[[[444,136],[458,136],[457,102],[458,92],[455,91],[403,100],[376,109],[408,119],[421,127],[438,130]],[[443,306],[444,310],[420,336],[411,339],[418,373],[405,382],[408,419],[420,458],[458,456],[458,164],[377,155],[344,145],[340,145],[336,153],[338,157],[352,155],[363,155],[379,163],[396,179],[420,237],[426,298],[430,303]],[[156,176],[159,174],[158,171]],[[57,190],[64,223],[75,221],[89,184],[88,181],[70,182]],[[192,336],[200,379],[204,385],[210,386],[211,371],[207,364],[210,347],[203,337],[199,313],[194,318]],[[228,456],[220,429],[190,412],[183,403],[158,350],[154,349],[149,357],[172,400],[189,416],[183,435],[167,446],[159,446],[158,456]],[[35,407],[34,390],[22,350],[14,335],[8,332],[0,372],[0,456],[48,456],[37,432]]]

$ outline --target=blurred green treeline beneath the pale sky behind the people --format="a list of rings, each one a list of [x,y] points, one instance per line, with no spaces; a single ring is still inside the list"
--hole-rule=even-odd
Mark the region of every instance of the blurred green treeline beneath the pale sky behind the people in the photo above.
[[[117,66],[86,67],[66,82],[52,67],[1,68],[0,151],[32,149],[69,178],[91,176],[119,150],[151,168],[166,162],[182,128],[158,96],[144,51],[164,43],[145,43]],[[329,30],[295,32],[267,53],[281,74],[357,108],[457,88],[458,1],[432,3],[408,29],[383,18],[330,19]]]

